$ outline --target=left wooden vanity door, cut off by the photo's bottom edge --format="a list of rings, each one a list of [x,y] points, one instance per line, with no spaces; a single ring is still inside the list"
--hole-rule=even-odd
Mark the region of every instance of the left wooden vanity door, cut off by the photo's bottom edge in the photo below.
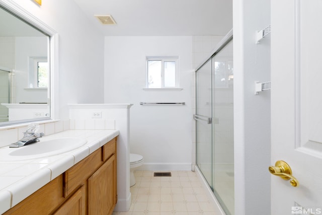
[[[79,188],[53,215],[85,215],[86,214],[86,189],[83,185]]]

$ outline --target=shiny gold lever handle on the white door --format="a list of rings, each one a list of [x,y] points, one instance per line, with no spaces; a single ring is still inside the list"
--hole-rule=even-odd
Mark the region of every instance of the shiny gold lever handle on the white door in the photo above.
[[[275,167],[270,166],[268,168],[268,170],[273,175],[277,175],[277,176],[281,177],[284,180],[292,179],[292,180],[290,180],[290,184],[293,187],[297,187],[299,185],[297,179],[294,176],[292,176],[291,167],[285,161],[277,161],[275,163]]]

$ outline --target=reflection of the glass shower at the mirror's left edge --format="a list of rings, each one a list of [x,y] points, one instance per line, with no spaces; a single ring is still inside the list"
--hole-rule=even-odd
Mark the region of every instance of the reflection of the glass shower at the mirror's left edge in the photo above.
[[[0,122],[7,122],[9,119],[9,110],[2,103],[11,101],[11,78],[12,71],[0,67]]]

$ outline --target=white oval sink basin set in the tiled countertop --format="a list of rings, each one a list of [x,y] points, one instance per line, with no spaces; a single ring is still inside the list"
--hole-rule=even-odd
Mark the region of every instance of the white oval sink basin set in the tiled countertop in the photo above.
[[[34,144],[20,148],[3,148],[0,150],[0,161],[21,161],[35,158],[43,158],[69,152],[84,146],[86,139],[78,137],[58,137],[54,139],[42,139]]]

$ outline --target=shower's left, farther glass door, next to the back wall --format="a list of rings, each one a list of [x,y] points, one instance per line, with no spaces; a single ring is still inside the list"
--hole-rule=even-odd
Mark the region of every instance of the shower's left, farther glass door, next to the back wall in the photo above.
[[[196,71],[196,164],[212,188],[211,60]]]

